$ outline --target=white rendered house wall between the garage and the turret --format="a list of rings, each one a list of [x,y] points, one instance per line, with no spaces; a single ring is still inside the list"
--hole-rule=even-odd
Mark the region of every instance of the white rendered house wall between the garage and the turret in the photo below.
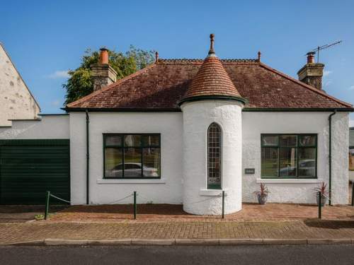
[[[182,113],[89,113],[90,204],[182,204]],[[161,134],[161,179],[103,179],[103,134]],[[86,116],[70,113],[72,204],[86,204]]]

